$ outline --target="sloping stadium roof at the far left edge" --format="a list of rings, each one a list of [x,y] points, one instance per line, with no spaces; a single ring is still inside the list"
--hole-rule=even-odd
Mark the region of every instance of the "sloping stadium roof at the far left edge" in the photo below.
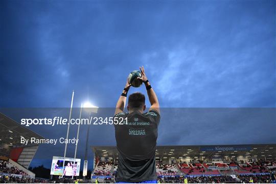
[[[35,137],[43,139],[43,137],[34,133],[32,130],[0,113],[0,154],[9,155],[12,147],[24,146],[20,143],[21,136],[25,138]],[[33,144],[29,146],[33,146]]]

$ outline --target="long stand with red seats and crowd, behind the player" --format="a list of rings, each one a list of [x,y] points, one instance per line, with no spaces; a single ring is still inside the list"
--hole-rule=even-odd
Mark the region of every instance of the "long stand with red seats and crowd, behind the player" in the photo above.
[[[229,148],[229,146],[224,147]],[[244,147],[239,145],[239,147],[242,148],[241,151],[231,148],[231,151],[219,152],[201,149],[200,146],[157,146],[156,175],[163,183],[183,183],[185,178],[188,179],[188,183],[248,183],[250,177],[254,179],[254,182],[276,183],[274,178],[276,164],[273,157],[276,145],[245,145]],[[91,148],[99,158],[105,157],[101,162],[110,163],[111,177],[116,177],[118,160],[107,161],[110,157],[118,157],[116,147]],[[108,154],[108,156],[104,156],[104,154]],[[263,161],[262,155],[264,154],[272,156]],[[115,164],[112,164],[113,162]],[[270,173],[271,171],[272,173]],[[107,175],[94,175],[95,177],[99,177],[101,182],[110,181]]]

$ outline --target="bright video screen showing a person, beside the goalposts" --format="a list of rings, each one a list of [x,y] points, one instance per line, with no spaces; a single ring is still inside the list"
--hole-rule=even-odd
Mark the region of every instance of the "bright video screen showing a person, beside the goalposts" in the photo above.
[[[64,176],[79,176],[80,174],[80,159],[67,158],[65,157],[64,163]],[[51,166],[51,175],[62,175],[62,167],[63,167],[63,157],[53,156],[52,166]]]

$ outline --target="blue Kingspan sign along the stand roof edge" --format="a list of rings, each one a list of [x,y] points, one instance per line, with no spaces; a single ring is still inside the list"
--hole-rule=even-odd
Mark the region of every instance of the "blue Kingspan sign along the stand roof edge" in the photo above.
[[[249,151],[251,146],[201,146],[200,151]]]

